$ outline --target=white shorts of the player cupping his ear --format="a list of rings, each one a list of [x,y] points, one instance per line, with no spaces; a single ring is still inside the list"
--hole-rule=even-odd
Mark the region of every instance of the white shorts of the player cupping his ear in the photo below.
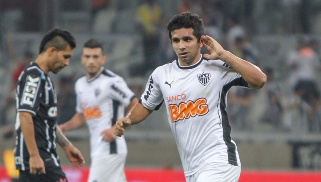
[[[193,175],[186,176],[187,182],[237,182],[241,174],[241,166],[228,163],[212,162],[206,164]]]

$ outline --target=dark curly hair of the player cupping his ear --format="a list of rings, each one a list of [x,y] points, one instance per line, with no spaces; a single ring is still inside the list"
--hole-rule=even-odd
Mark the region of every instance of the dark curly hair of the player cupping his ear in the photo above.
[[[170,39],[172,40],[172,32],[177,29],[193,29],[193,35],[197,38],[199,42],[202,35],[204,34],[203,20],[197,14],[192,14],[191,12],[184,12],[175,15],[167,25],[167,30],[169,31]]]

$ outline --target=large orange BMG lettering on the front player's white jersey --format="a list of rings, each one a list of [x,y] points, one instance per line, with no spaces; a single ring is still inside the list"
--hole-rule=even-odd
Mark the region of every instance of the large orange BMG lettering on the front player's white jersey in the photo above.
[[[169,111],[172,122],[188,119],[195,116],[203,116],[209,112],[209,106],[205,98],[196,101],[181,102],[179,105],[170,104]]]

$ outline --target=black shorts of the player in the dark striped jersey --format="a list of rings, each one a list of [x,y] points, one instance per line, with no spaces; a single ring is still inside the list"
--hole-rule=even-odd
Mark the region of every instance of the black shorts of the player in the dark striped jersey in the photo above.
[[[61,167],[46,167],[45,174],[31,174],[30,170],[19,171],[20,182],[67,182],[66,174]]]

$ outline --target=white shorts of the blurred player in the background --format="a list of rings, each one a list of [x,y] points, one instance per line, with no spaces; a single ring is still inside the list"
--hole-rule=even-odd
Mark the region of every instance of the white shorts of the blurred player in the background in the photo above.
[[[88,182],[126,182],[127,154],[104,154],[91,159]]]

